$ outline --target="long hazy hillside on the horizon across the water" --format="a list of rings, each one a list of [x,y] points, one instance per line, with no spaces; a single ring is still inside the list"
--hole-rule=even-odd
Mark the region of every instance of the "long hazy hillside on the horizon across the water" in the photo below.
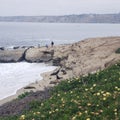
[[[120,23],[120,13],[64,16],[6,16],[0,17],[0,21],[41,23]]]

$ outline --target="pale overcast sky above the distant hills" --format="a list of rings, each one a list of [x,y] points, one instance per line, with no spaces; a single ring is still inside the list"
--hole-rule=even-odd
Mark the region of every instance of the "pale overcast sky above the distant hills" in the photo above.
[[[120,13],[120,0],[0,0],[0,16]]]

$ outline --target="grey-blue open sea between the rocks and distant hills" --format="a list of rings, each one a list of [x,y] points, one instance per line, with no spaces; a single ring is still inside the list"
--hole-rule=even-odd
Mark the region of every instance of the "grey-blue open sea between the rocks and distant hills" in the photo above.
[[[68,44],[91,37],[120,36],[120,24],[0,22],[0,46]]]

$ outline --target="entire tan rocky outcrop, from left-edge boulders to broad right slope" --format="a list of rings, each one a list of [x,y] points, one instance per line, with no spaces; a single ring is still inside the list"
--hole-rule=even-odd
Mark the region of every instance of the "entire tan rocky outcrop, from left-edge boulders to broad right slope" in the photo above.
[[[102,70],[120,60],[120,54],[116,54],[118,48],[120,37],[91,38],[48,48],[0,50],[0,62],[49,62],[73,77]]]

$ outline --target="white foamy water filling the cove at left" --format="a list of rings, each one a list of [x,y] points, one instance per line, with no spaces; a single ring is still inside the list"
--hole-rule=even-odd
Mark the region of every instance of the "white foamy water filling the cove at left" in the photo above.
[[[55,68],[43,63],[0,63],[0,100],[14,95],[18,89],[30,83],[41,80],[41,73]]]

